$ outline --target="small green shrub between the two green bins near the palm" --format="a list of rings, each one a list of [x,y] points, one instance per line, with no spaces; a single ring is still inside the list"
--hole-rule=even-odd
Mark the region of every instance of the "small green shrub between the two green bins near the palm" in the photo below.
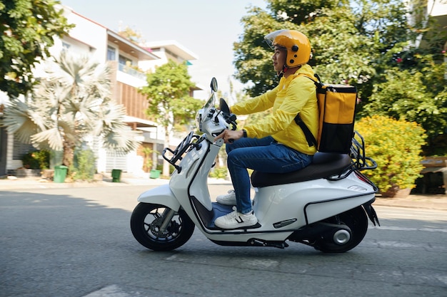
[[[90,149],[75,150],[74,162],[70,167],[73,179],[92,180],[96,172],[96,157]]]

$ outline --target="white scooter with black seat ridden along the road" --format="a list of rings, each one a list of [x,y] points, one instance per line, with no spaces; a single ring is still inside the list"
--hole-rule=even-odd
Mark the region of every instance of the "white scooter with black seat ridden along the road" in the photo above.
[[[356,133],[349,155],[320,153],[303,170],[286,174],[253,172],[253,211],[256,226],[219,229],[214,220],[232,212],[231,206],[211,202],[207,179],[223,140],[214,137],[224,129],[236,130],[236,115],[225,100],[215,107],[216,79],[211,97],[196,117],[198,129],[163,157],[176,170],[169,184],[150,189],[138,198],[131,215],[131,231],[140,244],[169,251],[191,238],[194,226],[223,246],[273,246],[284,248],[296,241],[323,252],[345,252],[357,246],[378,218],[371,204],[376,186],[359,170],[376,168],[364,154],[363,138]],[[360,140],[358,140],[360,138]]]

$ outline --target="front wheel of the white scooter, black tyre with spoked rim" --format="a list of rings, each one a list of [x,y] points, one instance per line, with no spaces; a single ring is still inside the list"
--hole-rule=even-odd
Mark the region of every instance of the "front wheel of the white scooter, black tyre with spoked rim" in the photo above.
[[[170,218],[171,217],[171,218]],[[165,222],[169,219],[169,222]],[[188,241],[194,222],[183,209],[174,212],[160,204],[139,203],[131,215],[131,231],[143,246],[154,251],[171,251]]]

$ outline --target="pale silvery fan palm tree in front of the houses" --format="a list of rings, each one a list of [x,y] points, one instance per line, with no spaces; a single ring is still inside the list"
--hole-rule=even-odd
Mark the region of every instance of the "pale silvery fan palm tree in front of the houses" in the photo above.
[[[126,110],[111,100],[111,68],[87,56],[46,63],[32,98],[11,98],[4,125],[19,140],[40,149],[63,151],[63,165],[73,163],[84,137],[100,137],[106,148],[129,152],[138,147],[138,132],[124,123]]]

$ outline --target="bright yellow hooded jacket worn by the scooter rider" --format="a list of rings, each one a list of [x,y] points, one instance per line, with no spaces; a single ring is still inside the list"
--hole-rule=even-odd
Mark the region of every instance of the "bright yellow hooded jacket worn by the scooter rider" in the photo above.
[[[294,120],[299,113],[313,136],[317,137],[318,104],[316,87],[312,80],[308,78],[314,78],[313,74],[311,66],[303,65],[288,78],[282,77],[273,90],[268,90],[262,95],[231,106],[231,113],[248,115],[273,108],[271,114],[261,122],[243,127],[247,136],[263,138],[271,135],[283,145],[307,155],[314,155],[316,147],[308,146],[303,130],[296,125]]]

